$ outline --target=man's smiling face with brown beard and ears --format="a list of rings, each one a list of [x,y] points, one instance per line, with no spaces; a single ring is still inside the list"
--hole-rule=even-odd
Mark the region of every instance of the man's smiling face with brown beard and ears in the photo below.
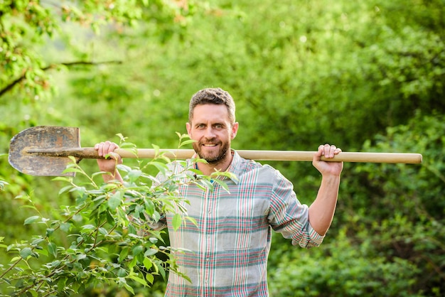
[[[187,123],[188,136],[195,140],[196,153],[213,164],[230,158],[230,143],[237,130],[238,123],[230,124],[227,107],[219,104],[197,105],[191,123]]]

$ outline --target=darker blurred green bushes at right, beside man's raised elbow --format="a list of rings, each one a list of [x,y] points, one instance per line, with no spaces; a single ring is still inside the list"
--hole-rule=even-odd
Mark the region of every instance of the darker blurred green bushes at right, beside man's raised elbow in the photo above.
[[[348,166],[321,249],[271,252],[280,296],[442,296],[445,292],[443,115],[417,114],[366,151],[422,151],[422,165]],[[277,244],[282,243],[282,244]],[[283,256],[285,255],[285,256]],[[277,258],[276,258],[277,257]],[[285,257],[283,259],[283,257]],[[298,292],[298,293],[296,293]]]

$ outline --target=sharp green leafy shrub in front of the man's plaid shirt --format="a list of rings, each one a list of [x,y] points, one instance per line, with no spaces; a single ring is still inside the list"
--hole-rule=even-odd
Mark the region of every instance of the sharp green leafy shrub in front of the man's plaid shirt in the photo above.
[[[163,231],[151,229],[149,222],[159,222],[162,214],[174,212],[173,228],[195,223],[186,214],[187,200],[178,195],[178,187],[196,184],[211,190],[210,178],[226,173],[205,176],[188,168],[185,161],[176,161],[185,169],[173,175],[166,162],[171,163],[159,153],[154,160],[141,162],[140,167],[119,165],[125,173],[122,185],[97,183],[95,177],[103,173],[88,176],[73,158],[65,172],[83,175],[89,182],[79,185],[72,177],[55,178],[69,184],[60,189],[60,195],[75,195],[74,205],[60,205],[60,220],[41,214],[30,196],[17,197],[26,200],[25,207],[36,211],[23,225],[41,224],[45,234],[0,244],[12,257],[7,266],[0,266],[2,292],[8,296],[70,296],[85,293],[90,286],[115,284],[134,294],[135,283],[152,286],[156,276],[166,279],[167,270],[187,279],[178,271],[175,261],[175,254],[182,251],[166,246]],[[166,180],[159,182],[144,173],[145,168],[151,167]],[[153,182],[155,185],[151,186]],[[70,242],[58,244],[57,237],[69,238]],[[0,237],[3,241],[4,237]],[[36,266],[34,260],[39,258],[45,260]]]

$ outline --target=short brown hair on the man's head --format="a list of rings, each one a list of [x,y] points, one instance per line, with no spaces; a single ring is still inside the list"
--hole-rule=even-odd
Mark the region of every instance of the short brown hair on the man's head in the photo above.
[[[227,107],[230,123],[235,123],[235,102],[229,92],[220,87],[199,90],[192,96],[188,107],[188,121],[190,123],[193,118],[193,109],[200,104],[224,104]]]

